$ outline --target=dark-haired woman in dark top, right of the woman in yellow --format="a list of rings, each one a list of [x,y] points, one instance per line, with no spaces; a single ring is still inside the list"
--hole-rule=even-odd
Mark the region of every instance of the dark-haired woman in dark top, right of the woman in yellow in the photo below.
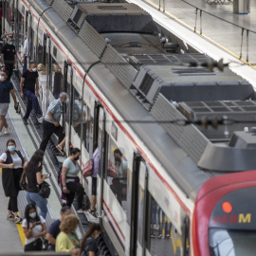
[[[96,239],[101,234],[101,226],[97,223],[92,223],[81,242],[81,256],[98,256],[100,250]]]

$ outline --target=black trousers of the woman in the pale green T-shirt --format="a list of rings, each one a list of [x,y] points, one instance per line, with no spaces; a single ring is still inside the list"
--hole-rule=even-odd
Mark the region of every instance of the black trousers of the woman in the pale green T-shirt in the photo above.
[[[75,194],[77,194],[78,199],[78,209],[82,209],[82,198],[84,194],[84,189],[82,188],[82,185],[78,182],[67,182],[66,183],[66,189],[69,191],[69,193],[66,193],[66,204],[71,207]]]

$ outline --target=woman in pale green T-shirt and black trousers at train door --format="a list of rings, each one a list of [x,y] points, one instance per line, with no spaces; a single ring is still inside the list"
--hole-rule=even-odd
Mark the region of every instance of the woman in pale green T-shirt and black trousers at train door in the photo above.
[[[84,189],[80,183],[80,178],[77,176],[79,174],[79,166],[77,161],[79,160],[80,155],[80,149],[72,148],[70,150],[69,157],[64,160],[62,169],[62,189],[66,198],[66,204],[69,207],[71,207],[75,194],[77,194],[78,212],[83,212],[82,198]]]

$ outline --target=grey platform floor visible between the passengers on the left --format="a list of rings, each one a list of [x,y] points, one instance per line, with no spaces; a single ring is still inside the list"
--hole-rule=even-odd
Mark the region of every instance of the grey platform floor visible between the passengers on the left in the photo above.
[[[12,80],[13,84],[17,85],[17,81],[15,79]],[[16,89],[16,88],[15,88]],[[17,100],[21,103],[22,107],[22,115],[25,111],[25,103],[20,99],[19,93],[16,90]],[[28,119],[28,125],[24,125],[22,116],[17,114],[14,110],[14,103],[12,98],[10,97],[9,104],[9,113],[7,115],[7,121],[9,124],[9,135],[4,135],[0,137],[0,154],[6,151],[6,143],[9,138],[15,140],[17,145],[17,150],[20,150],[24,155],[26,155],[27,159],[39,148],[40,143],[40,135],[36,129],[36,125],[39,123],[34,123],[33,119]],[[37,127],[38,128],[38,127]],[[64,157],[64,156],[62,156]],[[62,160],[60,156],[58,156],[59,160]],[[55,159],[55,161],[54,161]],[[0,169],[0,171],[2,171]],[[60,210],[61,205],[63,203],[61,199],[61,190],[59,185],[57,184],[57,175],[58,171],[58,162],[56,163],[56,157],[53,157],[49,150],[46,151],[46,155],[44,158],[44,168],[43,174],[51,173],[51,177],[46,181],[50,184],[51,193],[49,198],[47,199],[47,215],[46,215],[46,227],[47,229],[51,225],[51,223],[60,218]],[[2,186],[2,175],[0,174],[0,223],[1,223],[1,232],[0,232],[0,247],[1,247],[1,255],[18,255],[18,253],[22,253],[24,251],[24,243],[25,243],[25,235],[23,232],[23,228],[21,224],[15,224],[13,221],[7,220],[8,214],[8,197],[5,196]],[[25,208],[27,206],[26,200],[26,192],[19,192],[18,196],[18,208],[19,214],[22,218],[24,218]],[[38,210],[40,212],[40,210]],[[81,223],[76,229],[78,237],[81,239],[84,235],[86,229],[88,228],[89,222],[85,217],[84,213],[77,213],[74,206],[72,206],[72,213],[78,214]],[[10,239],[11,238],[11,239]]]

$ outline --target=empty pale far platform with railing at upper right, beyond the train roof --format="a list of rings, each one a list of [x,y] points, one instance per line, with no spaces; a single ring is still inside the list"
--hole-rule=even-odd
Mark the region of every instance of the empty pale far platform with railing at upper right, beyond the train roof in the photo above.
[[[156,23],[198,52],[215,61],[223,59],[234,73],[256,88],[256,1],[250,1],[250,13],[246,15],[233,13],[233,3],[228,0],[224,4],[213,0],[128,2],[147,10]]]

